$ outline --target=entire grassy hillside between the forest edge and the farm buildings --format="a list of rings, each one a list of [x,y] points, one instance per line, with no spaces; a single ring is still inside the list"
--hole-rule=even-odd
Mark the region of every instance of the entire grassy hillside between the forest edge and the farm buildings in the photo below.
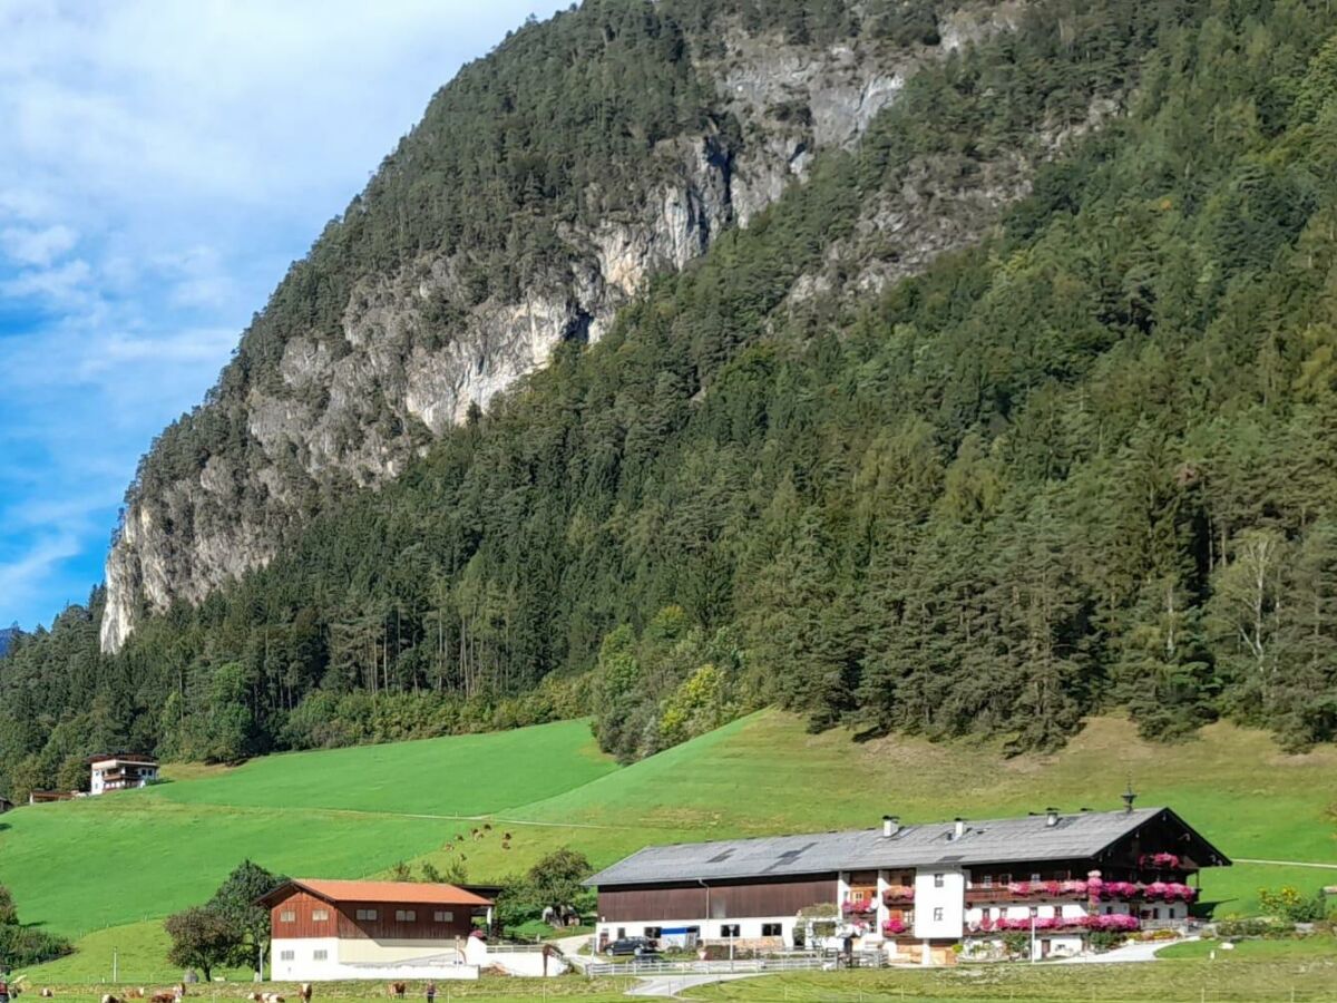
[[[242,856],[328,876],[398,860],[444,869],[463,856],[472,880],[500,880],[563,845],[602,865],[651,843],[873,826],[886,812],[928,821],[1106,806],[1130,777],[1140,804],[1173,805],[1233,857],[1337,863],[1337,752],[1290,756],[1225,723],[1167,750],[1127,721],[1098,718],[1062,753],[1005,758],[996,742],[810,736],[793,715],[765,711],[622,769],[572,722],[189,773],[7,816],[0,883],[25,916],[83,933],[206,897]],[[480,840],[468,834],[480,820],[449,817],[476,812],[495,824]],[[128,863],[108,869],[108,859]],[[1219,915],[1249,912],[1259,887],[1308,889],[1328,873],[1237,863],[1203,875],[1203,900]],[[96,933],[88,944],[114,939]],[[139,941],[150,964],[143,944],[162,933],[147,923],[120,940]],[[87,956],[57,964],[79,971]]]

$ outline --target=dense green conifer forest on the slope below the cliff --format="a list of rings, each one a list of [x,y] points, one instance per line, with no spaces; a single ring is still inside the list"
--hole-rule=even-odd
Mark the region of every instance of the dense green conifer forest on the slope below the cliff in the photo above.
[[[848,4],[763,7],[849,29]],[[932,31],[890,7],[886,31]],[[1035,8],[263,570],[116,655],[100,590],[16,637],[0,793],[75,785],[95,749],[234,761],[582,714],[630,760],[767,703],[1017,750],[1106,710],[1166,741],[1218,717],[1337,740],[1337,9]],[[968,186],[1096,100],[1118,114],[977,246],[793,294],[878,193]],[[602,170],[560,138],[544,163]]]

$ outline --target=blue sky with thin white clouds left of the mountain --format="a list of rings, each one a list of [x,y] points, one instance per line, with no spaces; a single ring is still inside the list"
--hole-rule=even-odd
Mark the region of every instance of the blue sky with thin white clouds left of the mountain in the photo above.
[[[0,625],[102,579],[152,437],[541,0],[0,0]]]

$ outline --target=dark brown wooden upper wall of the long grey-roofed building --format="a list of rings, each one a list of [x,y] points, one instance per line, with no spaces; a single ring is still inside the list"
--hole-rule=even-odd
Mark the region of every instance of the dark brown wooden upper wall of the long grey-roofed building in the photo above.
[[[654,919],[746,919],[793,916],[808,905],[836,901],[836,875],[790,880],[626,885],[599,889],[599,916],[610,923]]]

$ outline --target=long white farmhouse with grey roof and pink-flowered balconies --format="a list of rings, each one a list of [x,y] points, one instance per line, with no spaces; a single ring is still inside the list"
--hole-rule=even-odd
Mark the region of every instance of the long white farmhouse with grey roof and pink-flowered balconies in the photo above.
[[[596,937],[763,950],[822,937],[927,964],[1034,931],[1036,958],[1080,954],[1094,931],[1182,924],[1198,871],[1230,864],[1173,810],[1132,797],[1116,812],[888,816],[877,829],[648,847],[587,881]]]

